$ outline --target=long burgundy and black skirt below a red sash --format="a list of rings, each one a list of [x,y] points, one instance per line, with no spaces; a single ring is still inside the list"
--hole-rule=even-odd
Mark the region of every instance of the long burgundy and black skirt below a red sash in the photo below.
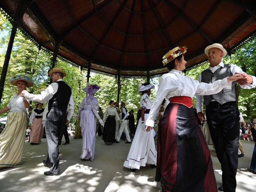
[[[158,127],[156,181],[164,192],[217,192],[210,150],[192,107],[166,107]]]

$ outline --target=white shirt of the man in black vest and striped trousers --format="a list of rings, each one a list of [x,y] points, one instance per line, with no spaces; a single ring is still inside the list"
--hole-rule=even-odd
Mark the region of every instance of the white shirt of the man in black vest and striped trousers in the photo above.
[[[62,79],[57,80],[58,81],[63,81]],[[48,88],[46,88],[46,90],[42,91],[41,94],[31,94],[31,93],[26,93],[25,94],[25,98],[30,100],[30,101],[37,101],[40,103],[45,103],[48,102],[53,96],[54,94],[58,91],[58,83],[54,82],[52,84],[50,84],[48,86]],[[68,102],[68,109],[67,109],[67,120],[70,121],[70,118],[72,117],[73,113],[74,113],[74,100],[73,100],[73,96],[71,93],[70,96],[70,100]]]

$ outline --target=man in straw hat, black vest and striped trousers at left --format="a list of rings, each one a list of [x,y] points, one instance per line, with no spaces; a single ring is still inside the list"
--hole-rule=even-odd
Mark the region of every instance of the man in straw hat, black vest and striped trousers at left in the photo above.
[[[22,96],[30,101],[48,102],[45,122],[48,156],[47,160],[43,160],[43,163],[50,170],[44,172],[44,175],[58,176],[60,174],[58,136],[63,135],[64,125],[68,124],[72,117],[74,100],[71,88],[63,81],[66,73],[61,68],[55,67],[48,74],[51,76],[53,83],[46,90],[38,95],[30,94],[24,90]]]

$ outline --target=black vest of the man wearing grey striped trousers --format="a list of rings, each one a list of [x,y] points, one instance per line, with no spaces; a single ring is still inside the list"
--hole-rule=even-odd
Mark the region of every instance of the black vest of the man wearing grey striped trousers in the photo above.
[[[56,83],[58,83],[58,90],[49,100],[48,111],[54,109],[66,112],[72,94],[71,88],[64,81],[57,81]]]

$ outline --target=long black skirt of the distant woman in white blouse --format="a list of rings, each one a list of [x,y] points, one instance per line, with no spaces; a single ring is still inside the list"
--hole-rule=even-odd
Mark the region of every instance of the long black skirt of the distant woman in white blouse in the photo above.
[[[108,116],[104,124],[102,139],[106,143],[113,143],[116,138],[116,119],[115,116]]]

